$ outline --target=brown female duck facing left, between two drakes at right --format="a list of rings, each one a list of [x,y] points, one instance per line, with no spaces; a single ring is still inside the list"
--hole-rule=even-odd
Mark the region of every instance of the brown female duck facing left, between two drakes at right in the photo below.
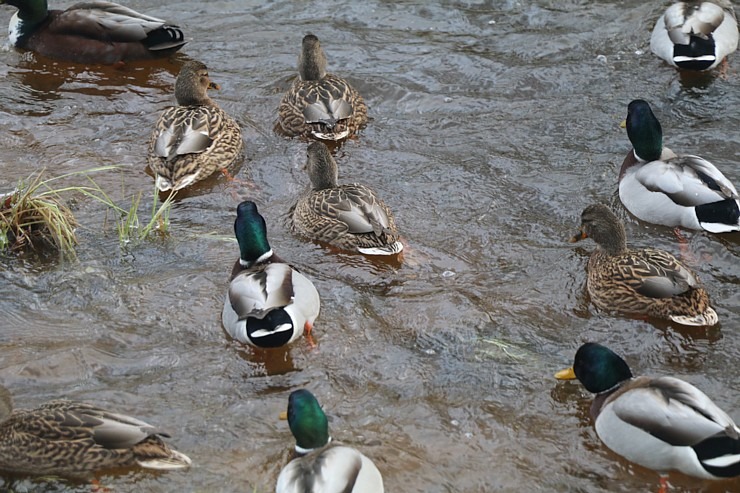
[[[593,239],[588,261],[588,293],[602,310],[673,320],[683,325],[714,325],[717,313],[696,275],[663,250],[627,248],[624,226],[601,204],[586,207],[581,231],[571,242]]]

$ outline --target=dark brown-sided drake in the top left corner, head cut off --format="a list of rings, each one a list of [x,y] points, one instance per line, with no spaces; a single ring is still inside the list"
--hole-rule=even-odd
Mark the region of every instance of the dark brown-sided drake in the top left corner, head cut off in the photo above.
[[[46,0],[0,0],[18,9],[10,19],[10,44],[49,58],[111,64],[171,55],[185,45],[182,31],[110,2],[49,10]]]

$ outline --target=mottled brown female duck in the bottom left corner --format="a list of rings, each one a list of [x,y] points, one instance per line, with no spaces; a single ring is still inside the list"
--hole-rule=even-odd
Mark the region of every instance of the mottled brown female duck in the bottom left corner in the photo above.
[[[51,401],[13,410],[0,387],[0,469],[23,474],[84,477],[95,471],[140,466],[173,470],[190,458],[162,441],[169,437],[136,418],[89,404]]]

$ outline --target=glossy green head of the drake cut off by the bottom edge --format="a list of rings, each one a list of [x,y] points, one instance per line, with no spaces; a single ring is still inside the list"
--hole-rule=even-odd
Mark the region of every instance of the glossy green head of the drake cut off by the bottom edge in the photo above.
[[[299,452],[321,448],[331,440],[326,414],[319,401],[308,390],[300,389],[290,394],[288,424]]]

